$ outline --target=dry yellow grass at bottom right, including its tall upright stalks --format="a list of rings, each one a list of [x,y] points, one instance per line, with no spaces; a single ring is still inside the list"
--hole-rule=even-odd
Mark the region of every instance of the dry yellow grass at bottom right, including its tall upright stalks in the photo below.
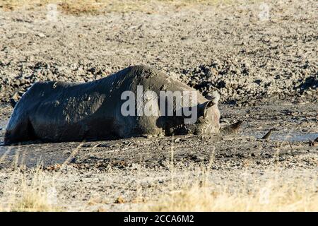
[[[171,161],[173,165],[173,145]],[[190,212],[253,212],[253,211],[318,211],[318,189],[312,181],[312,172],[301,174],[284,174],[273,167],[266,172],[265,179],[250,174],[247,166],[245,172],[237,177],[228,174],[223,184],[213,184],[215,174],[211,166],[215,160],[215,149],[211,151],[208,165],[196,170],[199,177],[184,179],[176,187],[171,172],[170,193],[147,203],[141,211],[190,211]],[[239,186],[234,186],[234,182]]]

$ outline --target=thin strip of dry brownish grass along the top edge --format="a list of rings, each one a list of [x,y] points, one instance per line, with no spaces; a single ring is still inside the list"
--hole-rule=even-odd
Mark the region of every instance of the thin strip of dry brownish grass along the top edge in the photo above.
[[[249,0],[252,1],[252,0]],[[254,0],[256,1],[256,0]],[[216,5],[231,4],[235,0],[0,0],[0,8],[5,11],[20,8],[32,10],[46,7],[47,4],[57,4],[58,10],[72,15],[98,15],[107,12],[143,11],[154,13],[158,8],[192,7],[198,4]]]

